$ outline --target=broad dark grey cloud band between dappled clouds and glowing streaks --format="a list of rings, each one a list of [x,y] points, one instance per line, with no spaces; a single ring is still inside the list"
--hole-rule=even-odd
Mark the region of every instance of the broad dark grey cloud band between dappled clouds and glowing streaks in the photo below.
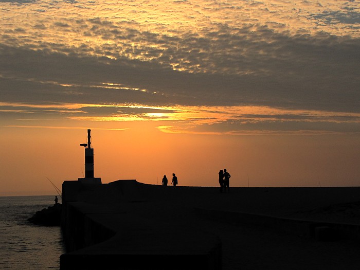
[[[187,73],[161,63],[3,46],[0,79],[8,99],[4,101],[39,100],[41,95],[42,102],[250,103],[355,112],[360,80],[356,44],[325,43],[287,42],[277,57],[258,56],[259,61],[249,63],[257,73],[243,75]],[[230,69],[231,62],[225,65]]]

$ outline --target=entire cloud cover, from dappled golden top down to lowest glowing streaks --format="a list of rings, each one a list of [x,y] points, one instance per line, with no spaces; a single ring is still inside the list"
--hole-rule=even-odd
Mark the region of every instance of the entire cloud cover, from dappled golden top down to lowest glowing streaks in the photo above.
[[[360,132],[358,1],[0,6],[8,127],[105,121],[126,131],[129,121],[154,121],[173,133]]]

